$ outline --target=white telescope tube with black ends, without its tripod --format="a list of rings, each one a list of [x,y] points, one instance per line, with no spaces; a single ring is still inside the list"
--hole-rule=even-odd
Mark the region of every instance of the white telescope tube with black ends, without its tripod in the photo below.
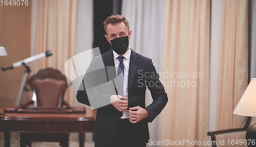
[[[44,52],[44,53],[40,53],[40,54],[37,54],[35,56],[29,57],[27,59],[15,62],[9,67],[6,67],[6,68],[2,67],[2,70],[5,71],[5,70],[8,70],[8,69],[13,69],[15,67],[26,65],[27,63],[33,62],[35,60],[38,60],[38,59],[41,59],[41,58],[44,58],[44,57],[49,57],[51,55],[52,55],[52,51],[47,51],[47,52]]]

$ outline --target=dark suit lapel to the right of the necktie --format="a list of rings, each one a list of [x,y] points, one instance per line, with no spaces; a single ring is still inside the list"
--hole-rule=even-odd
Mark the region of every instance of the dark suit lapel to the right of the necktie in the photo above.
[[[128,92],[130,91],[130,88],[132,86],[132,82],[134,79],[134,75],[136,74],[139,59],[138,55],[131,49],[131,61],[129,66],[129,75],[128,75]]]

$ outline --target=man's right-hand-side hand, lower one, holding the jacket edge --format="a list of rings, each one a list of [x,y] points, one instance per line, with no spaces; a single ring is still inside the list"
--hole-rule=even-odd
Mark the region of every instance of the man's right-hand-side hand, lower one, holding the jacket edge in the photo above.
[[[129,110],[129,118],[130,118],[129,120],[133,124],[135,124],[136,122],[139,122],[140,120],[148,116],[150,116],[150,114],[148,114],[148,112],[145,109],[141,108],[140,106],[132,107]]]

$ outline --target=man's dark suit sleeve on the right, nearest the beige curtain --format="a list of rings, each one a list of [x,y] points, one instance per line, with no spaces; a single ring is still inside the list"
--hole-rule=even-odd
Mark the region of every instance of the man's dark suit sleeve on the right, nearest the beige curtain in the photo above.
[[[163,84],[159,81],[159,76],[151,59],[148,62],[147,69],[148,75],[146,76],[146,86],[151,91],[153,102],[145,109],[147,110],[148,114],[150,114],[148,122],[152,122],[156,118],[156,116],[163,110],[163,108],[167,104],[168,98],[167,94],[165,93]]]

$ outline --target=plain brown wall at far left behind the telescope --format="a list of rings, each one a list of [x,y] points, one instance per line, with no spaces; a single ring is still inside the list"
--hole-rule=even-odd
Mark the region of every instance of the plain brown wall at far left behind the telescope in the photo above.
[[[31,5],[0,6],[0,46],[5,46],[8,53],[8,56],[0,57],[0,67],[30,57],[30,30]],[[14,105],[24,71],[24,67],[0,71],[0,108]],[[28,97],[29,92],[22,96]]]

